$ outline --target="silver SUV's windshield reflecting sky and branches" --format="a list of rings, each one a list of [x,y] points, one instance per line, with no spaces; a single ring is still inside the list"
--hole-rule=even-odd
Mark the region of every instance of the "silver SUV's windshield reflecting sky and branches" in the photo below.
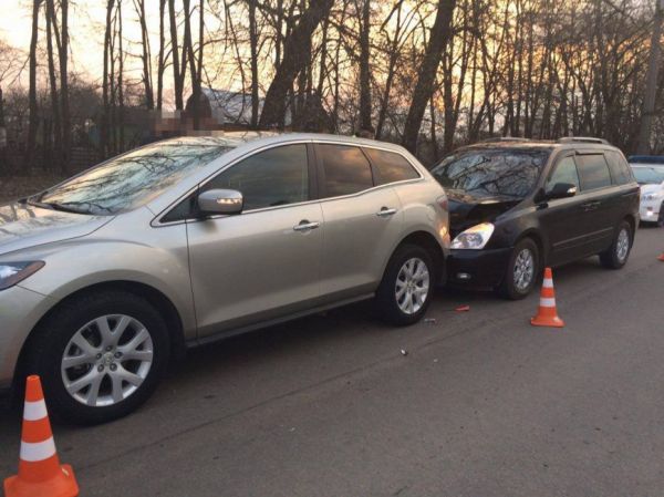
[[[100,216],[131,210],[231,148],[226,144],[156,143],[112,158],[33,197],[31,203]]]

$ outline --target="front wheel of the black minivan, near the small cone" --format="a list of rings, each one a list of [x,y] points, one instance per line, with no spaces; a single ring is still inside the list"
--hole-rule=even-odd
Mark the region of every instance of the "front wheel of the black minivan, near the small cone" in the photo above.
[[[532,238],[523,238],[515,246],[509,256],[502,282],[496,290],[505,299],[525,299],[535,288],[539,273],[539,248]]]

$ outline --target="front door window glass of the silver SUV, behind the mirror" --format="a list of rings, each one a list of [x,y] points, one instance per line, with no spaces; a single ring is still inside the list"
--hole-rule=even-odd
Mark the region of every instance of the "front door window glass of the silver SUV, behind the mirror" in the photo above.
[[[309,199],[307,145],[284,145],[240,161],[204,186],[236,189],[245,210],[283,206]]]

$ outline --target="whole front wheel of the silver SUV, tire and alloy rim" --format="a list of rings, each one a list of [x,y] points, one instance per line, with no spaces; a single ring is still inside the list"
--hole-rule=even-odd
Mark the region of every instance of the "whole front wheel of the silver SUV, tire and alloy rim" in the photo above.
[[[120,335],[113,334],[121,329]],[[115,346],[104,345],[114,340]],[[159,312],[142,297],[120,291],[63,302],[39,325],[28,346],[23,371],[41,376],[50,413],[62,423],[81,425],[106,423],[135,411],[157,387],[170,355]],[[89,386],[75,391],[85,383]]]

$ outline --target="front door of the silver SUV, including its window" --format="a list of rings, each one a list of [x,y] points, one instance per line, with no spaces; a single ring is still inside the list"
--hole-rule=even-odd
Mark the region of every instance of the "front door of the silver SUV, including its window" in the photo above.
[[[201,186],[245,209],[187,224],[199,336],[305,309],[320,297],[323,217],[305,144],[259,152]]]

